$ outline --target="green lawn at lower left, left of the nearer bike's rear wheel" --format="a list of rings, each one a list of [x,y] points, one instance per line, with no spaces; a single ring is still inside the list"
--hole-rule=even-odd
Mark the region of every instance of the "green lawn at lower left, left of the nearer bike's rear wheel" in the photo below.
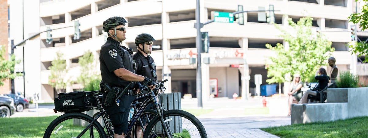
[[[0,118],[0,138],[42,138],[56,117]]]

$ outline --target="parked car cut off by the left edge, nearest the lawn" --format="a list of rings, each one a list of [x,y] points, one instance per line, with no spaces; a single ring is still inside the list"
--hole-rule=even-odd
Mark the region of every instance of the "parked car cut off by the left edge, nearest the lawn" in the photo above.
[[[0,117],[10,117],[14,114],[14,100],[8,96],[0,95]]]

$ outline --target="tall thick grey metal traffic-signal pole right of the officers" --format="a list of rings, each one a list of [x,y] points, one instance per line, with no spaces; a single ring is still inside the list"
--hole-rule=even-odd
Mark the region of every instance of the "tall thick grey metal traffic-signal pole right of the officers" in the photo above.
[[[195,47],[197,47],[197,99],[198,99],[198,107],[202,106],[202,41],[201,41],[201,18],[199,17],[199,0],[197,0],[197,8],[195,9],[195,20],[197,20],[197,24],[195,24],[195,28],[197,29],[197,37],[195,38]]]

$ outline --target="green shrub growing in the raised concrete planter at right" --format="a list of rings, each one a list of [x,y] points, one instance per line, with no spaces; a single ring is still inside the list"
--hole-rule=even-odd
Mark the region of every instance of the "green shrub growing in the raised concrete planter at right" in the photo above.
[[[338,88],[356,88],[358,87],[358,77],[348,71],[341,72],[336,85]]]

